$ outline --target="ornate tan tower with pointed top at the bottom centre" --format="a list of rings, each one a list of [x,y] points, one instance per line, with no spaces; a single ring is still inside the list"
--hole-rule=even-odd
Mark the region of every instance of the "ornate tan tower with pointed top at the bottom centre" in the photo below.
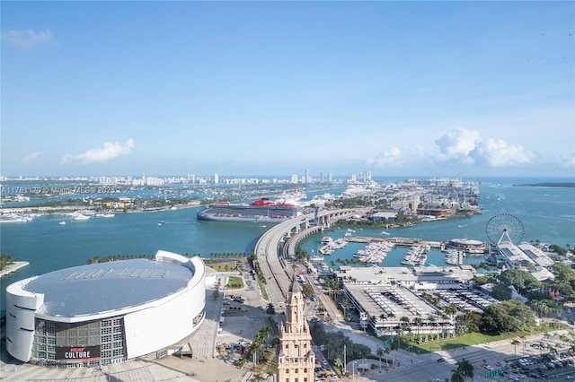
[[[305,298],[294,274],[286,300],[286,323],[279,327],[278,382],[315,381],[315,354],[304,307]]]

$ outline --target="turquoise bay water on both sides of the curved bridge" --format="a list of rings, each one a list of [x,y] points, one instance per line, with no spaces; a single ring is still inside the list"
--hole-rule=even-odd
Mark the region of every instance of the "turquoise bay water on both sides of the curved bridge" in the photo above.
[[[486,225],[498,213],[510,213],[522,221],[524,240],[537,240],[565,247],[575,246],[575,188],[513,187],[513,184],[570,179],[485,179],[480,185],[484,207],[482,215],[447,221],[420,223],[413,227],[389,229],[391,235],[444,241],[466,238],[487,241]],[[572,181],[572,179],[571,179]],[[199,207],[198,207],[199,208]],[[3,254],[31,262],[18,273],[3,277],[2,308],[5,286],[32,275],[75,265],[85,265],[93,256],[153,255],[158,249],[181,254],[249,253],[257,239],[270,227],[255,223],[196,221],[197,208],[155,213],[117,214],[113,218],[68,221],[62,215],[40,216],[25,223],[4,223],[0,227],[0,250]],[[165,221],[158,225],[158,221]],[[345,227],[325,232],[342,237]],[[356,230],[355,235],[381,236],[378,230]],[[302,243],[309,253],[319,247],[324,234],[309,237]],[[349,243],[328,261],[349,258],[362,244]],[[406,248],[397,247],[383,265],[396,266]],[[481,262],[466,258],[465,263]],[[428,264],[443,265],[443,254],[431,251]]]

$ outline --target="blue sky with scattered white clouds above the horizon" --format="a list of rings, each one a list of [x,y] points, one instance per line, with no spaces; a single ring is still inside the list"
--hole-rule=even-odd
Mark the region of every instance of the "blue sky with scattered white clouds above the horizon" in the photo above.
[[[573,2],[3,2],[3,176],[575,177]]]

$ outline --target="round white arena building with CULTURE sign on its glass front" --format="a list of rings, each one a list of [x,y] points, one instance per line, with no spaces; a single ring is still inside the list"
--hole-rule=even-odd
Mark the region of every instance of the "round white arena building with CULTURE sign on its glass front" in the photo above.
[[[6,288],[6,349],[59,367],[159,358],[203,322],[206,267],[158,251],[154,260],[82,265]]]

